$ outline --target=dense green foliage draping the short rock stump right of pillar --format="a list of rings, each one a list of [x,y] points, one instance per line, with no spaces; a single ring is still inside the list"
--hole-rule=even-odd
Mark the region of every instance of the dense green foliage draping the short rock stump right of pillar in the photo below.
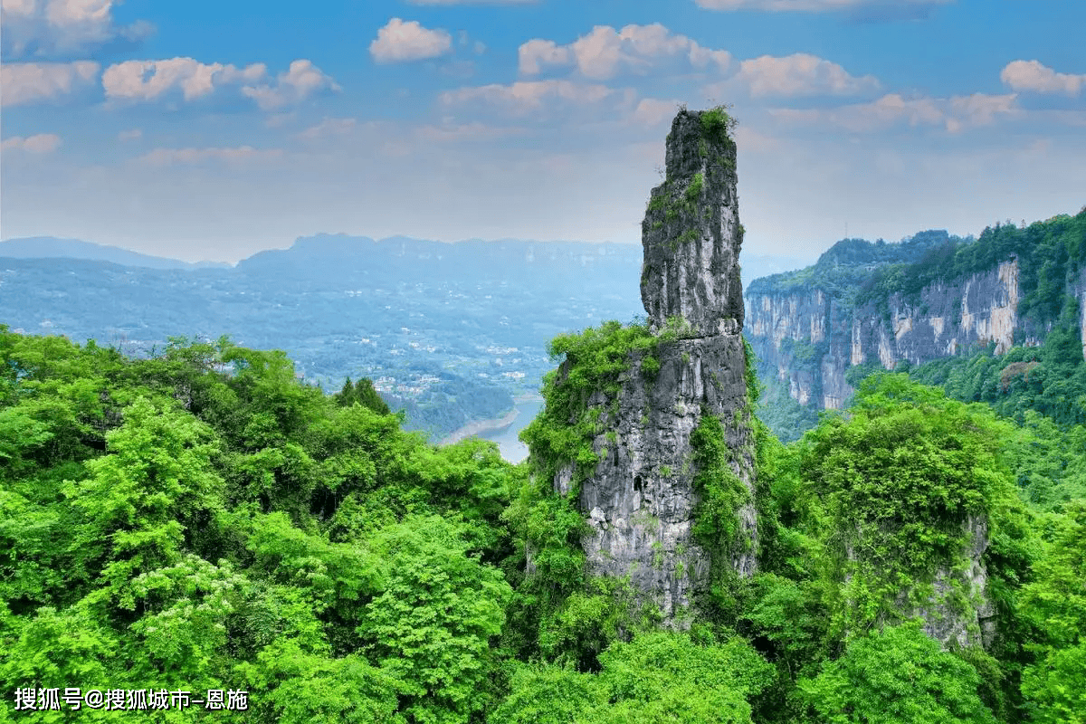
[[[851,418],[828,417],[805,439],[806,516],[826,546],[823,575],[839,581],[834,620],[862,631],[898,615],[899,596],[927,605],[931,576],[960,567],[970,521],[1013,509],[998,452],[1009,427],[980,406],[945,398],[905,374],[869,378]],[[968,594],[938,604],[967,613]]]

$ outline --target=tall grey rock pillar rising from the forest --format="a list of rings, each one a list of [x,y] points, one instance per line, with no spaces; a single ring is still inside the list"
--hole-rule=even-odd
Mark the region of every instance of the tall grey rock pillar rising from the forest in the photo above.
[[[727,116],[680,111],[668,136],[666,180],[653,189],[642,225],[642,300],[649,328],[670,330],[669,341],[652,357],[632,353],[618,392],[589,402],[605,431],[593,441],[599,461],[580,486],[590,573],[629,575],[672,626],[689,622],[714,567],[749,575],[756,564],[735,182]],[[727,465],[746,492],[735,510],[738,541],[720,545],[703,545],[693,532],[699,470],[692,434],[705,415],[721,421]],[[572,470],[556,477],[557,491],[569,490]]]

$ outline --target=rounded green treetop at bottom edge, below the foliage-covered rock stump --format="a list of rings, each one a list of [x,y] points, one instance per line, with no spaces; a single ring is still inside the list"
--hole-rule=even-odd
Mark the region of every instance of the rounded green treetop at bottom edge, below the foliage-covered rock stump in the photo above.
[[[801,679],[799,689],[813,721],[826,724],[994,723],[978,683],[972,666],[939,650],[913,623],[853,639],[843,657]]]

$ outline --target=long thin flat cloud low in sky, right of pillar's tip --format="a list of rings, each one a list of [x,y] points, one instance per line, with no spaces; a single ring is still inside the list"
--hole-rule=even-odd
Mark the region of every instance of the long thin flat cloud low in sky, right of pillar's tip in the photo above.
[[[787,122],[824,124],[855,132],[873,132],[894,125],[943,126],[950,132],[987,126],[998,116],[1020,112],[1016,96],[955,96],[952,98],[907,99],[888,93],[870,103],[855,103],[837,109],[772,109],[770,114]]]

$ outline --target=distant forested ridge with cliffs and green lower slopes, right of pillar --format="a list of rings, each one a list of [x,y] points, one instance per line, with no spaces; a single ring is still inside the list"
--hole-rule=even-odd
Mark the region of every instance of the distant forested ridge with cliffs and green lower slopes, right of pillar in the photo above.
[[[1013,302],[998,300],[999,284],[993,285],[1009,264],[1014,270],[1006,271],[1013,283],[1007,289],[1013,289]],[[795,323],[791,334],[774,338],[752,335],[754,320],[748,319],[747,334],[761,355],[759,373],[767,385],[759,415],[782,440],[795,440],[818,423],[828,386],[835,402],[847,399],[849,385],[892,366],[919,382],[944,386],[955,398],[986,402],[1020,423],[1028,410],[1061,424],[1086,422],[1081,402],[1086,391],[1084,267],[1086,207],[1030,225],[996,224],[976,239],[927,231],[895,244],[837,242],[816,265],[757,279],[747,288],[750,317],[758,316],[757,304],[766,297],[791,295],[800,306],[809,305],[811,325],[825,323],[825,333],[818,336],[804,331],[806,323]],[[978,292],[986,275],[987,291]],[[970,289],[974,296],[967,301]],[[932,304],[939,290],[954,300],[936,308]],[[762,299],[755,302],[758,295]],[[822,300],[830,300],[824,319],[819,317]],[[971,336],[961,327],[967,306],[973,315],[990,315],[1005,304],[1013,306],[1012,329],[997,332],[990,317],[986,323],[992,328],[983,333]],[[933,321],[937,333],[923,338],[913,332],[925,325],[933,330]],[[863,340],[869,323],[881,327],[886,351],[879,352],[881,343],[873,339]],[[896,352],[895,341],[901,345]],[[856,364],[858,356],[863,361]],[[791,391],[790,381],[780,378],[782,367]],[[800,378],[806,404],[796,397]]]

